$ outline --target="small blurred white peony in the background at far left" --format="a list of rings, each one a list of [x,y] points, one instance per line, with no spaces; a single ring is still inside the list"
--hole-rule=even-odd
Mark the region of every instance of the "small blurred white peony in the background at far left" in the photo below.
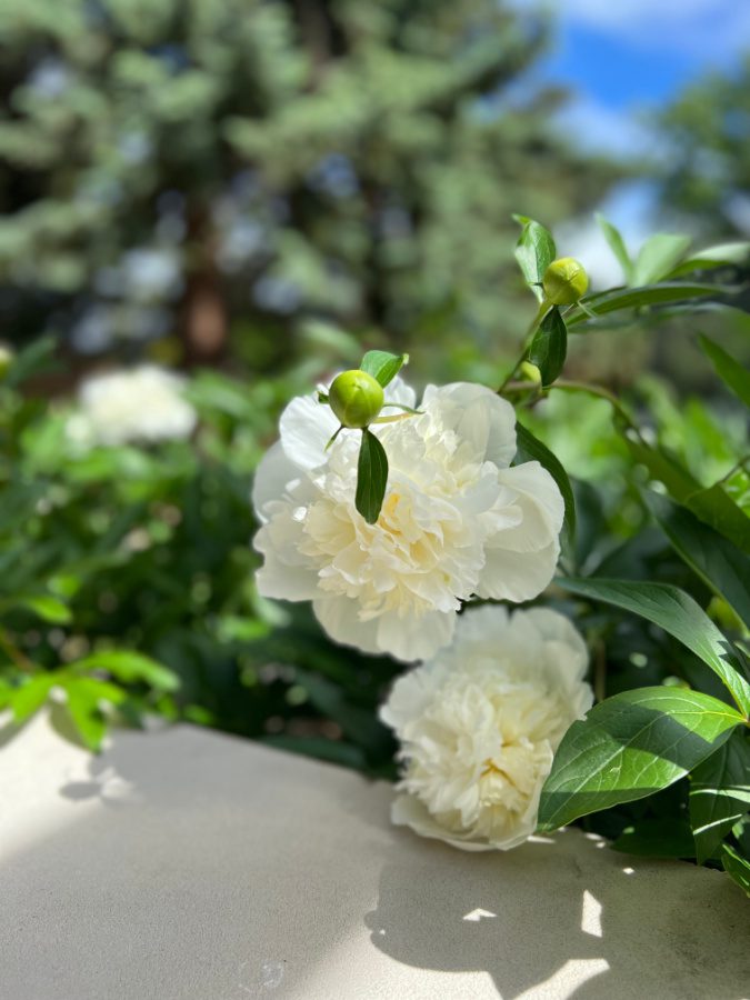
[[[91,376],[79,390],[68,438],[84,448],[188,438],[197,414],[182,396],[183,386],[180,376],[154,364]]]

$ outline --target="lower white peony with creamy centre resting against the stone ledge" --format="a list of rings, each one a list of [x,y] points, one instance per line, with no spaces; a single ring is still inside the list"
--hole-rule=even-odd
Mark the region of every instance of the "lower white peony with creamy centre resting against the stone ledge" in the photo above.
[[[552,756],[591,708],[587,661],[554,611],[469,609],[450,649],[399,678],[380,711],[404,763],[393,822],[467,851],[524,841]]]

